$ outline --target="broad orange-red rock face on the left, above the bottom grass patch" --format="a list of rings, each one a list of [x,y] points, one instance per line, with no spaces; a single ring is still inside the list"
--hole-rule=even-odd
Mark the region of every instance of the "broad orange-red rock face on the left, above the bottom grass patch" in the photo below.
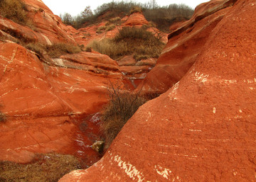
[[[106,55],[80,52],[48,65],[14,42],[0,42],[0,55],[1,112],[7,115],[0,123],[0,160],[28,162],[33,154],[47,152],[79,154],[84,146],[80,153],[97,161],[90,148],[97,137],[90,136],[100,136],[99,126],[86,123],[82,115],[97,113],[107,102],[109,81],[122,80],[117,63]],[[90,129],[87,136],[81,125]]]

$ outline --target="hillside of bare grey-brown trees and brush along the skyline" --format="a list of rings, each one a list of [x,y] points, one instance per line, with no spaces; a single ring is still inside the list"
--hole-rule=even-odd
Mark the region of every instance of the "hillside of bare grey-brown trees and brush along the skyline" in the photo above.
[[[123,18],[129,16],[134,10],[138,11],[138,9],[142,11],[147,21],[151,21],[156,25],[156,28],[164,32],[169,32],[172,23],[188,20],[193,15],[193,9],[185,4],[158,6],[155,1],[147,4],[112,1],[97,7],[94,13],[92,13],[90,6],[87,6],[78,16],[72,17],[69,13],[64,13],[60,15],[60,18],[65,24],[73,25],[74,28],[78,29],[117,16]]]

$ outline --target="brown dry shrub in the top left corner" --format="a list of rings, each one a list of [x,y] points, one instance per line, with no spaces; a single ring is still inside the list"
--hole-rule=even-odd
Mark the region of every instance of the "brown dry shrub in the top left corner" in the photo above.
[[[19,0],[1,0],[0,15],[23,25],[28,22],[26,6]]]

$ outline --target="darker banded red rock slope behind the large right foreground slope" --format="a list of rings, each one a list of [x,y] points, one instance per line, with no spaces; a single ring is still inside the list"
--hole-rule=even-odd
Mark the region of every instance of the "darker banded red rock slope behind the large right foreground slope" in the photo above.
[[[196,7],[192,18],[178,23],[169,34],[169,42],[157,60],[156,67],[147,74],[140,89],[164,93],[188,72],[201,52],[208,49],[210,33],[225,18],[235,1],[213,0]]]

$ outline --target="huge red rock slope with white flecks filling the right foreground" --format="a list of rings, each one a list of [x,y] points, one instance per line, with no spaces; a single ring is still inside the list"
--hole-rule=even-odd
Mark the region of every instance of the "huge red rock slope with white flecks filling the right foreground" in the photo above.
[[[223,16],[185,76],[139,108],[100,161],[60,182],[255,181],[255,12],[255,1],[238,0],[195,23],[197,35],[198,24]],[[174,47],[169,42],[164,55]]]

